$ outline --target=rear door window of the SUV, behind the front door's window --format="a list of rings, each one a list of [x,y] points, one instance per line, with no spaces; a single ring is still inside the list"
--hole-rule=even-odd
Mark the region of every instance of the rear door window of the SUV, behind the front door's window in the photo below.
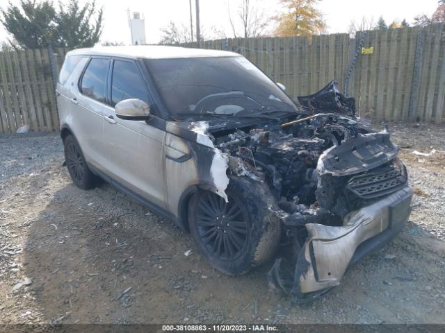
[[[81,81],[82,94],[99,102],[105,101],[105,80],[108,59],[92,58]]]

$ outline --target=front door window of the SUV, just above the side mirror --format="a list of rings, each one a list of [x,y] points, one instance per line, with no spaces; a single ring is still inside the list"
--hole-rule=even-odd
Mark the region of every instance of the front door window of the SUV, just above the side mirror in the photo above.
[[[140,99],[149,104],[147,85],[134,62],[115,60],[111,80],[111,106],[124,99]]]

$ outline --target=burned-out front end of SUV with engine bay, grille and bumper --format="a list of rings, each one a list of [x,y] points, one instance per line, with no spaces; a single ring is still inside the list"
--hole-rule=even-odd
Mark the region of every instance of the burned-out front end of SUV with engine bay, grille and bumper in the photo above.
[[[319,97],[328,105],[330,99],[343,112],[304,108],[312,113],[288,123],[207,132],[228,157],[230,173],[266,182],[275,198],[285,255],[268,278],[293,302],[339,284],[360,251],[382,245],[372,244],[373,237],[391,239],[410,214],[407,173],[389,131],[366,128],[355,118],[355,101],[330,85],[302,101],[318,105]]]

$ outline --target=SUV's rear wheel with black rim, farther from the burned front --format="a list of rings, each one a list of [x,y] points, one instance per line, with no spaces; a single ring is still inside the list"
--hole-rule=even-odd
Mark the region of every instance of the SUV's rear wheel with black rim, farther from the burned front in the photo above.
[[[63,142],[65,146],[65,162],[74,184],[81,189],[92,189],[97,184],[95,176],[88,165],[79,144],[73,135],[67,135]]]

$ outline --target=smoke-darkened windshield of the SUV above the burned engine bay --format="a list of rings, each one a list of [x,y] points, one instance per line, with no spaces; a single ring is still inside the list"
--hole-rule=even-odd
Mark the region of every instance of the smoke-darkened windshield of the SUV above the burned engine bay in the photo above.
[[[145,64],[167,108],[178,119],[193,114],[249,117],[298,112],[280,87],[241,56],[147,59]]]

